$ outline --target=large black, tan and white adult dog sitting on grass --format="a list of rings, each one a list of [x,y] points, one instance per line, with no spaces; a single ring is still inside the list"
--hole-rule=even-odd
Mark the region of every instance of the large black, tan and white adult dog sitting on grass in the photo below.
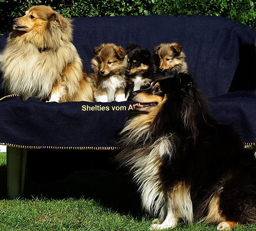
[[[256,159],[229,125],[208,113],[188,74],[132,93],[137,112],[121,132],[116,159],[139,185],[151,229],[185,222],[218,230],[256,222]]]

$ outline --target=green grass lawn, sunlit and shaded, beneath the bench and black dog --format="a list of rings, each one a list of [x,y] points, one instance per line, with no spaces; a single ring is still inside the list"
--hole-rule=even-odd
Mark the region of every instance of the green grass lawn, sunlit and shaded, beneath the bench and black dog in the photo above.
[[[113,179],[115,179],[114,182]],[[119,173],[92,170],[76,172],[63,181],[45,186],[34,185],[27,179],[26,198],[7,200],[6,155],[1,153],[0,182],[2,186],[0,191],[0,198],[2,198],[0,200],[1,231],[139,231],[149,230],[153,219],[140,212],[139,197],[135,193],[135,188],[127,176]],[[120,184],[124,186],[120,187]],[[131,188],[130,192],[128,188]],[[63,193],[65,189],[67,189],[66,194]],[[69,196],[64,198],[63,195],[69,193],[74,195],[71,193],[72,190],[79,191],[79,189],[80,195],[84,192],[84,197],[79,199],[77,197],[79,194],[77,194],[76,198]],[[61,196],[59,196],[59,191],[62,192]],[[169,230],[214,231],[216,227],[200,223],[193,225],[180,223],[176,228]],[[234,228],[234,230],[255,231],[256,226],[245,225]]]

